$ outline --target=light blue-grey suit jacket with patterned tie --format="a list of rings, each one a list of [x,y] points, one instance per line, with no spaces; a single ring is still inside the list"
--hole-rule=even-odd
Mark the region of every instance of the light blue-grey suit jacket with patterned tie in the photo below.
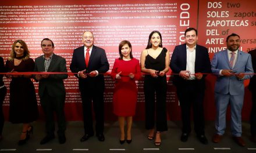
[[[211,61],[212,72],[218,76],[215,83],[215,92],[222,94],[239,95],[244,94],[244,79],[250,79],[252,75],[245,75],[244,79],[238,79],[235,75],[223,77],[219,75],[221,70],[233,70],[236,74],[253,73],[251,55],[242,51],[237,52],[237,61],[234,67],[229,65],[227,50],[215,53]]]

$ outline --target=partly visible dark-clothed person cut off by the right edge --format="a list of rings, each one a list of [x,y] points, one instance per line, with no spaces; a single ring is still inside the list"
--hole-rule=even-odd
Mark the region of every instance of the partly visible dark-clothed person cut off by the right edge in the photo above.
[[[251,50],[248,53],[251,54],[253,70],[256,71],[256,49]],[[256,143],[256,76],[255,75],[253,76],[253,78],[250,79],[249,89],[251,91],[251,100],[253,102],[253,105],[251,107],[251,116],[250,116],[251,141]]]

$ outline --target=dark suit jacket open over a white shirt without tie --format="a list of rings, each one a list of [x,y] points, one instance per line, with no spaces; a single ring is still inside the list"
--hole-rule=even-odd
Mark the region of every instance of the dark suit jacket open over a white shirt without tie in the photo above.
[[[179,74],[180,71],[186,70],[187,65],[187,48],[186,43],[175,46],[175,49],[172,53],[172,58],[170,59],[170,68],[173,73]],[[209,54],[207,48],[204,46],[197,45],[195,47],[195,73],[211,73],[211,62],[209,60]],[[205,87],[206,75],[203,75],[202,79],[195,80],[198,82],[198,85]],[[173,84],[182,85],[186,83],[186,80],[181,78],[179,75],[174,75]]]

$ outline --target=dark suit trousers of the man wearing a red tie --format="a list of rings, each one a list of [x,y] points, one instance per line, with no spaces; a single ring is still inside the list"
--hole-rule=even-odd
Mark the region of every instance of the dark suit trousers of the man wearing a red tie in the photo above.
[[[95,130],[96,134],[104,132],[104,88],[89,89],[86,85],[80,86],[81,99],[83,104],[84,133],[94,134],[93,130],[93,110],[95,114]]]

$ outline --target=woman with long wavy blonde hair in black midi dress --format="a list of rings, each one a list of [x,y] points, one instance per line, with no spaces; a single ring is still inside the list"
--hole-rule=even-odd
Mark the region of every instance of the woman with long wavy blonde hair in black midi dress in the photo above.
[[[22,40],[17,40],[12,45],[10,57],[5,67],[8,72],[33,72],[34,60],[30,59],[30,52]],[[26,143],[33,132],[30,122],[38,118],[37,99],[35,88],[31,81],[32,75],[6,75],[12,78],[10,82],[10,111],[9,121],[23,123],[19,145]]]

